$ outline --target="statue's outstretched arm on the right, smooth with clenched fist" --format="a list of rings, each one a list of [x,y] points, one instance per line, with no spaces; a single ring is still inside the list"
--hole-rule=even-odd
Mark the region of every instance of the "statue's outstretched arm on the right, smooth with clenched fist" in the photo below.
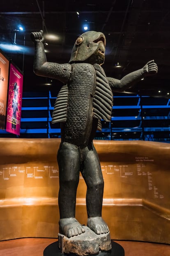
[[[152,61],[148,61],[143,68],[140,68],[128,75],[125,75],[121,80],[109,78],[108,82],[113,92],[123,92],[136,85],[142,78],[149,75],[154,75],[158,72],[158,66]]]

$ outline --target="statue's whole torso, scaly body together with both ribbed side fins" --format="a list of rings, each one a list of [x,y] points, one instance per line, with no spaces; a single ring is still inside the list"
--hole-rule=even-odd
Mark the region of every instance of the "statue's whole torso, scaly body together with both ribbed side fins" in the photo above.
[[[111,110],[112,92],[103,69],[97,64],[73,64],[53,111],[53,123],[62,123],[62,141],[87,146],[99,120],[110,120]]]

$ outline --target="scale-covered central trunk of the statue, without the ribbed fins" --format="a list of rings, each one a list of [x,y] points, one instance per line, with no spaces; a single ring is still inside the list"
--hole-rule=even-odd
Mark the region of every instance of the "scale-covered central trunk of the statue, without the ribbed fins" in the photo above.
[[[68,85],[69,98],[65,139],[85,143],[92,129],[92,92],[95,70],[91,64],[76,63],[72,66]]]

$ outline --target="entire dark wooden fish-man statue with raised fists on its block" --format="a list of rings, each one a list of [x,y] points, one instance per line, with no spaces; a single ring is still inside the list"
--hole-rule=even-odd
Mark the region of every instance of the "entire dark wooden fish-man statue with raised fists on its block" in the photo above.
[[[62,137],[57,153],[60,172],[59,232],[69,240],[79,235],[83,237],[90,229],[95,235],[95,241],[99,237],[100,244],[101,240],[106,240],[106,244],[98,248],[98,251],[110,250],[109,229],[101,217],[103,176],[93,138],[96,129],[101,130],[101,119],[110,121],[113,92],[122,92],[135,85],[141,78],[157,73],[157,65],[154,60],[149,61],[143,68],[117,80],[106,77],[101,68],[106,47],[103,33],[87,31],[80,35],[74,44],[69,63],[65,64],[47,62],[43,31],[31,33],[31,38],[35,45],[34,72],[63,82],[55,102],[52,120],[53,123],[61,122]],[[82,226],[75,218],[80,172],[87,185],[87,227]],[[87,240],[89,236],[88,234]],[[97,253],[94,248],[90,249],[88,254]],[[65,252],[83,254],[82,251]]]

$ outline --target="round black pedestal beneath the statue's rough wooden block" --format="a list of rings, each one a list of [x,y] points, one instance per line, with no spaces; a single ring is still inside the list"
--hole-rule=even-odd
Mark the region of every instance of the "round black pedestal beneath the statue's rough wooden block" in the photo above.
[[[44,256],[62,256],[60,254],[60,249],[58,247],[58,242],[54,242],[46,247],[44,250]],[[76,254],[63,254],[66,256],[76,256]],[[112,249],[110,251],[101,251],[97,256],[124,256],[124,249],[120,244],[117,244],[112,241]]]

